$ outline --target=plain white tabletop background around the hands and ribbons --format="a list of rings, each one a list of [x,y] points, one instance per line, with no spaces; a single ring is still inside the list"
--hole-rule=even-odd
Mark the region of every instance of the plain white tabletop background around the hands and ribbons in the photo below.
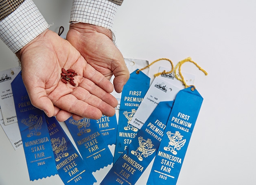
[[[51,30],[68,30],[71,0],[34,0]],[[196,75],[204,101],[177,185],[256,184],[255,0],[125,0],[113,31],[125,58],[174,65]],[[18,65],[0,41],[0,70]],[[151,77],[160,61],[151,67]],[[113,148],[112,148],[113,150]],[[96,173],[98,183],[107,168]],[[136,185],[145,185],[149,169]],[[97,184],[98,184],[97,183]],[[29,181],[23,148],[14,151],[0,128],[0,185],[62,185],[59,176]]]

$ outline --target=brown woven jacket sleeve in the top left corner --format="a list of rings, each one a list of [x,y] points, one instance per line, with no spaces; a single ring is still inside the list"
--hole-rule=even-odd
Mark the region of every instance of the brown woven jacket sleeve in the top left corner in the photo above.
[[[25,0],[0,0],[0,21],[15,11]]]

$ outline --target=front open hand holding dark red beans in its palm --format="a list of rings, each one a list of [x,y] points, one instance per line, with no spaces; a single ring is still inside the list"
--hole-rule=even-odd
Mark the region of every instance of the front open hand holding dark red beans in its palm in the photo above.
[[[55,32],[45,30],[18,55],[31,103],[49,117],[56,116],[57,120],[64,121],[72,114],[77,120],[115,114],[117,101],[109,94],[113,91],[111,82]],[[74,77],[77,86],[61,82],[61,68],[79,73]]]

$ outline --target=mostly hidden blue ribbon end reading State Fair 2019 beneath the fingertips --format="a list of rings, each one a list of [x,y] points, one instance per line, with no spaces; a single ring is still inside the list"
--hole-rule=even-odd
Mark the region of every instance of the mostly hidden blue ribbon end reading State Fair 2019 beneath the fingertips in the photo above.
[[[98,131],[101,133],[105,143],[107,145],[116,144],[117,133],[117,120],[116,114],[112,117],[102,115],[102,117],[96,120],[98,125]]]

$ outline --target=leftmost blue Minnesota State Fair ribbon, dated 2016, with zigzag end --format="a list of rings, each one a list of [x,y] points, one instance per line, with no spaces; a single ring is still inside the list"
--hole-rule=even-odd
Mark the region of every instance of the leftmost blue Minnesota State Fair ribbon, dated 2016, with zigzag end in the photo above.
[[[21,72],[11,86],[30,180],[57,174],[44,112],[31,104]]]

